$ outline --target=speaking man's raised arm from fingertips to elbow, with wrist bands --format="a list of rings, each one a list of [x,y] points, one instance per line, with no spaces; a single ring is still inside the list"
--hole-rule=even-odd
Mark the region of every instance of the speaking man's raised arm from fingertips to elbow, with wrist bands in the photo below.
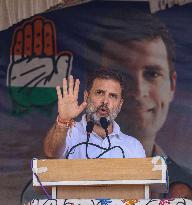
[[[58,116],[56,124],[49,130],[44,140],[44,152],[49,158],[58,158],[63,154],[66,147],[66,136],[69,128],[74,125],[74,118],[87,106],[87,102],[78,105],[80,81],[77,79],[74,83],[73,76],[63,79],[63,89],[56,87],[58,97]]]

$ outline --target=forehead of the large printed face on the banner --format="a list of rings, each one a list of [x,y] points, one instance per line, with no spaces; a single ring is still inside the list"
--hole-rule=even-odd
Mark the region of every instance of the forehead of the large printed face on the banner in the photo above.
[[[106,42],[101,59],[102,66],[113,69],[160,66],[169,70],[167,49],[160,38],[124,43]]]

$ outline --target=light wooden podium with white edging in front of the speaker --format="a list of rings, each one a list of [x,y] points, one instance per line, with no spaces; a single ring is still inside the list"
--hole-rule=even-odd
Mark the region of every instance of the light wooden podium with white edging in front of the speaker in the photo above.
[[[33,160],[33,186],[51,188],[55,199],[148,199],[167,191],[166,173],[161,157]]]

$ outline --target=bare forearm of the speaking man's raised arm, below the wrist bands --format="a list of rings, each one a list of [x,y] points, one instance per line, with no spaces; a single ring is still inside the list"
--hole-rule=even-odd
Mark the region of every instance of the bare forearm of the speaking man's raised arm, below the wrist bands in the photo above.
[[[44,152],[49,158],[59,158],[66,146],[68,128],[60,127],[55,123],[48,131],[44,140]]]

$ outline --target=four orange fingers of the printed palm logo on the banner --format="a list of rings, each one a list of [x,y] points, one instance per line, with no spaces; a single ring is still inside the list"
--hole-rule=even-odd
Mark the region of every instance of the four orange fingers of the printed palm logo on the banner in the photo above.
[[[41,16],[25,21],[12,40],[12,61],[22,58],[55,56],[55,27],[52,21]]]

